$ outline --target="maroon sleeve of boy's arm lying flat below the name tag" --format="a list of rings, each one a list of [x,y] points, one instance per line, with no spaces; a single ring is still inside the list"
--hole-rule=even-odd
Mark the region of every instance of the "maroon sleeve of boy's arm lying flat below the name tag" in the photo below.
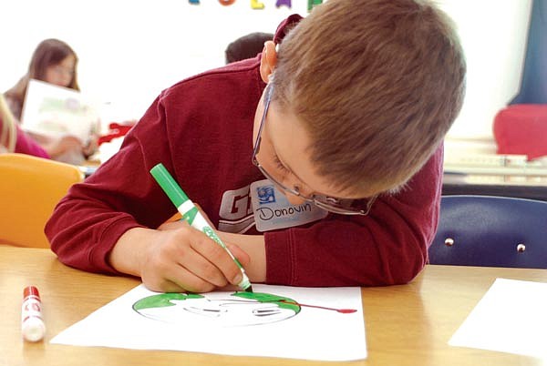
[[[384,286],[413,280],[437,230],[442,146],[368,216],[329,215],[309,228],[265,233],[266,281],[292,286]]]

